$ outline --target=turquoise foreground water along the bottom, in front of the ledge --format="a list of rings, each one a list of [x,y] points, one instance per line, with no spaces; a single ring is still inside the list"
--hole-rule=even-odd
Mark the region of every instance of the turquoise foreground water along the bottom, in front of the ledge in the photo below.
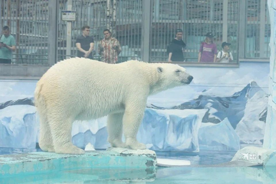
[[[149,183],[149,184],[259,184],[276,183],[276,168],[158,168],[145,169],[80,169],[30,175],[2,180],[8,184],[88,184],[88,183]]]

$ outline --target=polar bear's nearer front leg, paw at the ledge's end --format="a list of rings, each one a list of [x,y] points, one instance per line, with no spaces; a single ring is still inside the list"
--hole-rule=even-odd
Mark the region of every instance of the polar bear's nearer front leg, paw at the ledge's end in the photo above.
[[[123,117],[123,131],[126,146],[130,149],[146,149],[146,145],[136,139],[137,132],[144,117],[144,108],[126,109]]]

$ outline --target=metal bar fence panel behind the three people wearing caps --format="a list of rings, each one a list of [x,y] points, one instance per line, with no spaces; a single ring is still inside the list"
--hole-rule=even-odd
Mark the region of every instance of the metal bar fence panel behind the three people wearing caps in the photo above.
[[[204,41],[204,35],[207,32],[214,34],[214,42],[218,50],[222,49],[223,41],[232,43],[231,52],[236,58],[236,1],[155,0],[153,12],[151,60],[168,59],[166,45],[175,37],[177,29],[184,31],[183,41],[187,44],[184,52],[186,62],[198,61],[200,44]]]

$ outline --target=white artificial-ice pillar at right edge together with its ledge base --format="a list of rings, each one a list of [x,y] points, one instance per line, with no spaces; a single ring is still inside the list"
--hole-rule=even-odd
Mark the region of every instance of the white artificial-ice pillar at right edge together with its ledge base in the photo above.
[[[238,164],[253,163],[253,165],[262,164],[263,167],[275,168],[276,166],[276,64],[275,64],[275,38],[274,24],[276,24],[276,3],[275,0],[267,0],[267,5],[270,15],[271,23],[271,37],[270,37],[270,71],[269,71],[269,100],[267,106],[267,119],[264,132],[263,147],[248,146],[237,151],[231,161],[238,161]],[[249,156],[244,160],[244,156]],[[248,164],[247,163],[247,164]],[[271,173],[272,174],[272,173]],[[272,174],[273,175],[273,174]],[[275,175],[275,174],[274,174]],[[262,177],[262,176],[261,176]]]

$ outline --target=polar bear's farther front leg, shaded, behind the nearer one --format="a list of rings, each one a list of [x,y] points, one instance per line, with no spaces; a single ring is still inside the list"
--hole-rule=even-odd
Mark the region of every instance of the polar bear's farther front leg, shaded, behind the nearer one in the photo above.
[[[122,126],[124,113],[109,114],[107,119],[108,139],[111,147],[126,147],[122,142]]]

